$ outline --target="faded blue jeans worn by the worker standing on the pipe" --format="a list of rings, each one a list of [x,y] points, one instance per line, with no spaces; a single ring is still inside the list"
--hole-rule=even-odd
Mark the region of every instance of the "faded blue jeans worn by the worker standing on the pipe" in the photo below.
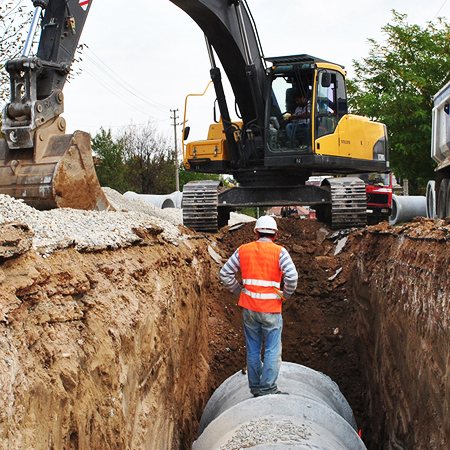
[[[280,314],[242,310],[244,334],[247,345],[247,375],[253,395],[273,394],[281,366],[281,331],[283,318]],[[264,363],[261,349],[264,339]]]

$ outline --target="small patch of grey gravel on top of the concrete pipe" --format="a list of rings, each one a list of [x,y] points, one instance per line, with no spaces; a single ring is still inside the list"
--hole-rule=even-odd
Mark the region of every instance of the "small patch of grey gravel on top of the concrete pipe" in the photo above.
[[[261,418],[244,423],[219,450],[240,450],[261,444],[305,444],[310,435],[307,425],[292,423],[288,418]]]

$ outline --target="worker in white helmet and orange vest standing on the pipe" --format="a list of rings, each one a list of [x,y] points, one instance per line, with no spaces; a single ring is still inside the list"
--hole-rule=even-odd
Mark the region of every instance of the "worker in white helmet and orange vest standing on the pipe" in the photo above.
[[[220,270],[220,278],[239,295],[247,346],[247,375],[255,396],[281,394],[277,388],[281,366],[281,305],[297,287],[298,273],[287,250],[275,244],[275,219],[261,216],[254,228],[257,240],[241,245]],[[241,286],[236,274],[241,271]],[[281,290],[281,281],[284,281]],[[264,341],[264,363],[261,350]]]

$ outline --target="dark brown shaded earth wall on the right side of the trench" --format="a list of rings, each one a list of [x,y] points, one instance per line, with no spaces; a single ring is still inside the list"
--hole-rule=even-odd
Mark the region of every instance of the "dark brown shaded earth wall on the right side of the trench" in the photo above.
[[[369,231],[348,251],[370,448],[446,448],[450,242]]]

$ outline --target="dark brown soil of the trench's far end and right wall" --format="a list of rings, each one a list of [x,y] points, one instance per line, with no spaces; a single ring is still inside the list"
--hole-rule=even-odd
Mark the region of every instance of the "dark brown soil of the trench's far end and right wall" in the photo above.
[[[316,222],[281,222],[278,242],[299,271],[283,312],[283,360],[339,385],[371,450],[440,449],[450,437],[450,291],[446,270],[439,270],[449,266],[449,246],[427,235],[417,239],[421,226],[413,236],[383,225],[329,239]],[[231,254],[250,239],[247,225],[219,243]],[[228,331],[227,347],[213,351],[213,389],[245,364],[240,312],[234,298],[221,294],[215,314]]]

